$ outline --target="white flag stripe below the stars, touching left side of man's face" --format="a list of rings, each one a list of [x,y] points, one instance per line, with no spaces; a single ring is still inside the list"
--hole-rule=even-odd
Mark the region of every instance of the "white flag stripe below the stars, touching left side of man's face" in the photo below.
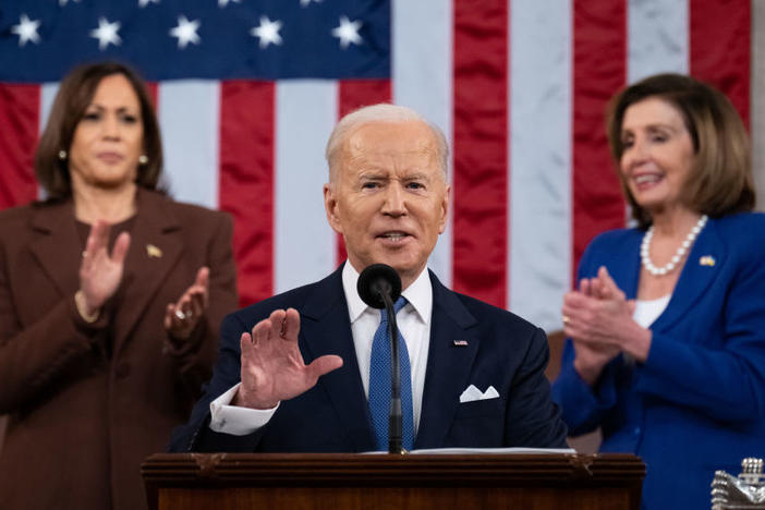
[[[321,189],[329,180],[325,145],[337,116],[336,82],[278,82],[274,219],[277,293],[319,280],[335,268],[337,241],[327,223]]]

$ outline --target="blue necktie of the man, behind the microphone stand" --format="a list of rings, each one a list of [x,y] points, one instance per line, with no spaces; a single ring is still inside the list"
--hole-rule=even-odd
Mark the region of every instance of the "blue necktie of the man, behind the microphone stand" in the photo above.
[[[406,304],[401,296],[393,308],[399,311]],[[388,333],[388,312],[380,311],[380,325],[372,341],[372,360],[369,363],[369,411],[377,439],[377,449],[388,451],[388,414],[390,412],[390,336]],[[412,376],[409,365],[409,351],[399,331],[399,363],[401,365],[401,413],[403,427],[401,446],[411,450],[414,445],[414,414],[412,413]]]

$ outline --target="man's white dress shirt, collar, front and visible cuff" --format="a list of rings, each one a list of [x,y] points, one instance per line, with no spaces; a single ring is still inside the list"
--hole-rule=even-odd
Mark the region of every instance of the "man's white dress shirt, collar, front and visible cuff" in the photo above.
[[[372,360],[372,341],[380,324],[380,311],[367,306],[356,292],[359,272],[345,263],[342,269],[342,288],[348,303],[349,319],[356,361],[361,373],[364,394],[369,396],[369,363]],[[433,287],[427,269],[423,269],[416,280],[401,293],[406,298],[406,305],[396,315],[399,330],[406,342],[412,374],[412,410],[414,412],[414,433],[420,426],[423,408],[423,389],[425,369],[430,339],[430,317],[433,312]],[[252,434],[271,418],[276,408],[255,410],[231,405],[239,384],[210,403],[210,428],[218,433],[243,436]]]

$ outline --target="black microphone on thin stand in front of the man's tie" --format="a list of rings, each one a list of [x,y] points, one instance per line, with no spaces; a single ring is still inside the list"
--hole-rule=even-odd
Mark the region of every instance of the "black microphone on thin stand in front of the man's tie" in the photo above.
[[[385,308],[388,313],[388,338],[390,339],[390,411],[388,413],[388,453],[403,453],[401,437],[403,416],[401,413],[401,368],[399,363],[399,326],[396,324],[393,303],[401,295],[401,278],[396,269],[386,264],[373,264],[359,275],[359,296],[373,308]]]

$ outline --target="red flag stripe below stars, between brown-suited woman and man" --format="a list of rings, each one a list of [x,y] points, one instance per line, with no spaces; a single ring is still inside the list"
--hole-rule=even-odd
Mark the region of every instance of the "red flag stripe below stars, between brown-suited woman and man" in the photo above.
[[[220,208],[234,217],[240,303],[274,292],[275,85],[222,82]]]

